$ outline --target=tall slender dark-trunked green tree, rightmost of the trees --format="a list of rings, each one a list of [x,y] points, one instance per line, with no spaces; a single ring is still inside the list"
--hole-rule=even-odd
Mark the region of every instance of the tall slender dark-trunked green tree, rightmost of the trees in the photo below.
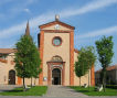
[[[98,59],[102,64],[102,77],[103,77],[103,87],[104,87],[104,91],[105,91],[105,85],[106,85],[106,68],[109,66],[109,64],[111,63],[111,58],[114,56],[114,52],[113,52],[113,36],[103,36],[102,40],[96,41],[96,48],[97,48],[97,53],[98,53]]]

